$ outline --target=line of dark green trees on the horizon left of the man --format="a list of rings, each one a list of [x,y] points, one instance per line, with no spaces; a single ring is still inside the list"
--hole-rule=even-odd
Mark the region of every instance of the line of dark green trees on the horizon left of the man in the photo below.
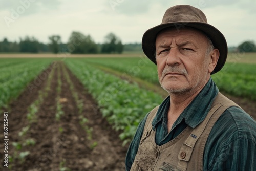
[[[10,42],[7,38],[0,41],[0,52],[22,52],[22,53],[72,53],[72,54],[96,54],[96,53],[122,53],[123,50],[130,51],[135,46],[141,51],[141,44],[127,44],[124,46],[121,39],[114,33],[104,37],[103,44],[96,44],[90,35],[84,35],[73,31],[67,43],[61,41],[59,35],[48,37],[49,43],[39,42],[35,37],[25,36],[19,38],[19,42]],[[139,47],[139,48],[138,48]]]

